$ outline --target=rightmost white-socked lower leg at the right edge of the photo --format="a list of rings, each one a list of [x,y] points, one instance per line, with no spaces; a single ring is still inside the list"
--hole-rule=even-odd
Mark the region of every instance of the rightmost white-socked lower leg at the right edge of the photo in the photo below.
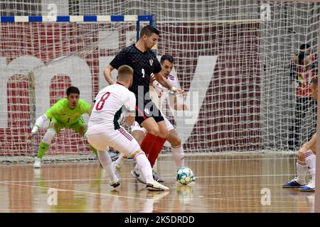
[[[316,188],[316,148],[306,151],[304,154],[304,160],[306,160],[306,166],[308,167],[309,173],[311,175],[311,181],[302,187],[302,192],[314,192]]]

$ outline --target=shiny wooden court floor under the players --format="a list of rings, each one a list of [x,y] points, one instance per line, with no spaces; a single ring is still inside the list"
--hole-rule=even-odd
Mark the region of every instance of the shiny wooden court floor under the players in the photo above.
[[[122,167],[120,187],[109,185],[97,162],[0,165],[0,212],[313,212],[314,193],[282,189],[295,175],[295,158],[282,154],[190,155],[196,182],[175,180],[162,155],[156,170],[168,192],[148,192]]]

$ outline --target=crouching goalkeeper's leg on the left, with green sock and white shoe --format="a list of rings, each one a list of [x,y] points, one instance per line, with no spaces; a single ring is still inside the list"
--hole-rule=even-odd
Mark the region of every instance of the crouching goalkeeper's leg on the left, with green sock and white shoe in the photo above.
[[[59,123],[55,118],[52,118],[48,127],[48,130],[46,131],[46,134],[43,136],[39,149],[37,157],[35,158],[35,162],[33,164],[33,167],[35,168],[41,168],[41,160],[43,156],[46,154],[47,150],[50,148],[51,141],[55,137],[55,134],[57,134],[60,129],[63,128],[63,125]]]

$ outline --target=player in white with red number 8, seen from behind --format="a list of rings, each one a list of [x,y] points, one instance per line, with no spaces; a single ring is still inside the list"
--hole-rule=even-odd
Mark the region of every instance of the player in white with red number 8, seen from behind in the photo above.
[[[136,160],[139,171],[146,178],[148,190],[167,190],[168,187],[154,181],[150,162],[137,140],[118,122],[122,111],[127,110],[127,123],[134,123],[136,97],[128,89],[132,85],[132,75],[132,67],[122,65],[118,69],[117,84],[105,87],[97,94],[88,123],[87,140],[97,148],[99,160],[110,176],[112,187],[119,186],[119,179],[114,174],[111,157],[106,151],[109,147]]]

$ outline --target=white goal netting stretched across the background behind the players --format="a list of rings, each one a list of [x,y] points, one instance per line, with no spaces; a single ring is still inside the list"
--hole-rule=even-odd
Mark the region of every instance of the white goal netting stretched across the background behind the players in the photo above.
[[[0,160],[32,160],[46,128],[31,143],[26,136],[71,84],[89,103],[107,85],[105,65],[136,41],[130,15],[153,15],[157,55],[176,59],[173,74],[187,92],[178,101],[189,109],[166,103],[164,112],[186,152],[294,150],[314,133],[316,105],[304,94],[298,108],[297,86],[317,73],[319,3],[0,0]],[[304,43],[314,60],[301,78],[292,58]],[[46,155],[61,156],[94,157],[71,130],[58,133]]]

